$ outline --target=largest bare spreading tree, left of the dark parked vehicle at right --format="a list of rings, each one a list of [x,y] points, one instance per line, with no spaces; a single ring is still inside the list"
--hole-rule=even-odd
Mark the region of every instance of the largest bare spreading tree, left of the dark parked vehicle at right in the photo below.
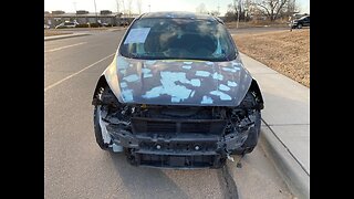
[[[284,9],[288,1],[289,0],[258,0],[254,4],[260,8],[260,11],[267,18],[274,21]]]

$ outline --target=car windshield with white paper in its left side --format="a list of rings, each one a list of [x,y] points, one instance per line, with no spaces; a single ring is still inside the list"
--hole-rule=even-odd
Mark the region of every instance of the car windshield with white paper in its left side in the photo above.
[[[236,49],[226,28],[210,20],[146,18],[134,22],[119,52],[143,60],[236,59]]]

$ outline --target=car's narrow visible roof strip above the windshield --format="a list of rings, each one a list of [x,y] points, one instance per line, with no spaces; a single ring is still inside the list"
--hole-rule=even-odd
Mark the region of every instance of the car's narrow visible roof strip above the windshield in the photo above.
[[[139,17],[140,19],[145,18],[174,18],[174,19],[197,19],[197,20],[210,20],[222,22],[219,18],[216,18],[210,14],[201,14],[194,12],[184,12],[184,11],[170,11],[170,12],[148,12]]]

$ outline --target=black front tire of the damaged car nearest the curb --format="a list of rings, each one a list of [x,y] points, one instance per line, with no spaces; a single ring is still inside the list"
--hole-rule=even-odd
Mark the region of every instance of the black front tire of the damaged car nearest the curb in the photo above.
[[[250,154],[258,144],[260,128],[261,128],[261,113],[257,111],[256,124],[253,127],[251,127],[246,142],[240,148],[231,151],[231,155]]]

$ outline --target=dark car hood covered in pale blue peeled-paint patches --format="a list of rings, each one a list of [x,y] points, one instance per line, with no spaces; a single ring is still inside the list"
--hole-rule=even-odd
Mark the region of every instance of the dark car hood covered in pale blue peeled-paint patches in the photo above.
[[[237,106],[252,77],[240,60],[135,60],[115,56],[104,72],[121,103]]]

